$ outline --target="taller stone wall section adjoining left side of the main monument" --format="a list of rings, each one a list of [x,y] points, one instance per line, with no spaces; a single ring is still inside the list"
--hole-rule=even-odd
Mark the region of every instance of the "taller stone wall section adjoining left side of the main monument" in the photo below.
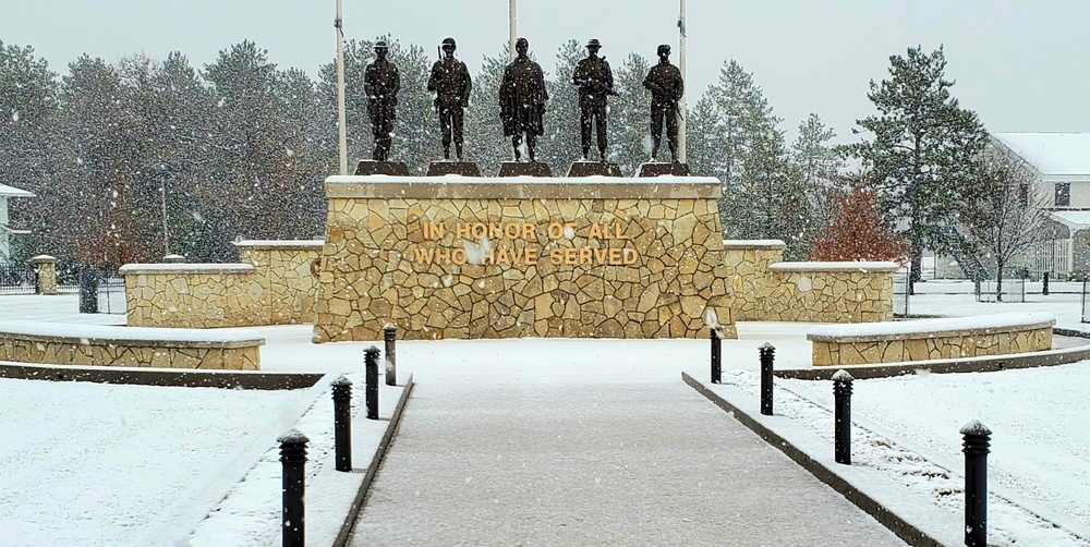
[[[240,260],[254,266],[265,288],[261,304],[267,319],[262,325],[314,323],[318,292],[315,262],[324,245],[322,240],[235,243]]]

